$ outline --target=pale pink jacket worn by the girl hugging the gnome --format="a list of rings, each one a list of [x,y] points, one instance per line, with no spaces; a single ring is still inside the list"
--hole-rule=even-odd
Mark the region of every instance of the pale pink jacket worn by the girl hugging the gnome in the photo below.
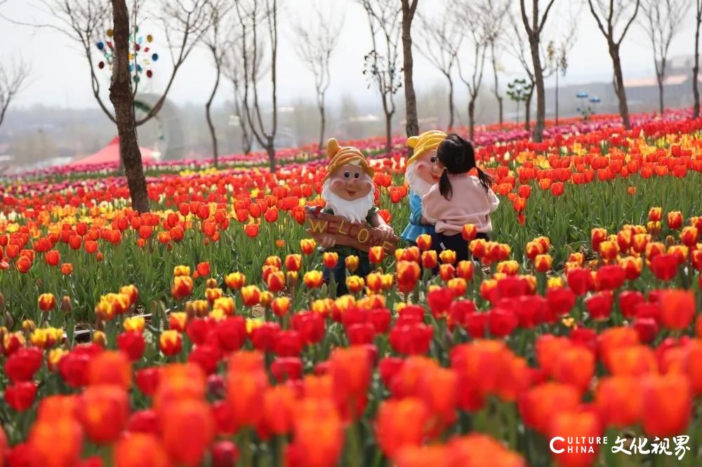
[[[460,234],[465,224],[475,224],[479,232],[491,232],[490,212],[500,203],[494,192],[488,189],[486,193],[477,177],[453,174],[449,180],[451,200],[444,198],[435,184],[422,198],[424,217],[436,224],[438,234]]]

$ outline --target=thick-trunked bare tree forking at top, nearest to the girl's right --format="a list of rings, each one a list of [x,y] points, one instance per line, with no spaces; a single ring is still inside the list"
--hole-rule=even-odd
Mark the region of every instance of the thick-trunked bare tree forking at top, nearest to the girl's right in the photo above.
[[[546,95],[543,86],[543,65],[541,65],[541,33],[548,20],[548,13],[555,0],[548,0],[543,13],[539,13],[539,0],[531,0],[531,19],[527,16],[526,0],[519,0],[519,10],[522,13],[522,22],[527,31],[529,48],[531,49],[531,62],[534,69],[534,81],[536,85],[536,125],[531,138],[536,142],[543,139],[543,128],[546,119]]]

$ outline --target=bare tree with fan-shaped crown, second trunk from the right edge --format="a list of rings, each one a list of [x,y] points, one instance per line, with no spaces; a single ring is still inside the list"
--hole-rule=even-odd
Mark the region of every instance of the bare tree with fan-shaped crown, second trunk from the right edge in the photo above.
[[[680,32],[680,23],[689,8],[687,0],[642,0],[644,13],[640,22],[651,40],[654,50],[654,67],[658,81],[658,111],[663,114],[663,81],[668,65],[668,50],[673,37]]]

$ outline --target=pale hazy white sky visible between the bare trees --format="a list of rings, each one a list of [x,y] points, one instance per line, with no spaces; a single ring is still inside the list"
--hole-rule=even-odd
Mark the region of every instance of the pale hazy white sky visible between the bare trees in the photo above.
[[[52,0],[47,0],[52,1]],[[398,0],[399,1],[399,0]],[[557,39],[564,34],[564,25],[567,24],[567,8],[577,10],[579,0],[556,0],[559,11],[555,11],[545,25],[545,36]],[[38,0],[7,0],[1,4],[0,15],[12,18],[15,21],[51,22],[51,15],[46,15],[37,7]],[[446,9],[446,3],[451,0],[419,0],[420,11],[423,14],[446,15],[452,14]],[[519,8],[519,2],[512,0],[512,8]],[[528,2],[529,3],[529,2]],[[542,2],[544,3],[544,2]],[[691,2],[692,3],[692,2]],[[366,15],[356,0],[285,0],[284,13],[280,15],[279,22],[279,79],[278,95],[283,105],[291,104],[297,100],[314,99],[312,74],[305,69],[295,53],[293,47],[293,32],[289,27],[292,20],[309,22],[316,18],[314,11],[317,8],[327,8],[338,18],[343,19],[343,27],[339,31],[338,48],[335,50],[331,62],[331,87],[328,102],[340,102],[343,95],[348,95],[359,102],[369,102],[376,97],[373,89],[368,88],[368,83],[362,75],[363,57],[371,49],[369,26]],[[571,10],[572,11],[572,10]],[[607,53],[607,43],[604,36],[597,29],[594,18],[590,15],[585,2],[585,7],[576,16],[578,22],[578,36],[574,48],[569,54],[569,68],[567,76],[561,78],[565,86],[569,84],[585,83],[590,81],[611,82],[612,66]],[[413,32],[419,23],[413,27]],[[470,25],[467,25],[470,27]],[[505,28],[509,27],[505,22]],[[145,33],[154,35],[153,48],[162,58],[152,67],[154,78],[149,80],[149,88],[160,92],[164,86],[164,76],[170,73],[168,63],[168,50],[163,41],[163,34],[153,23],[147,23],[143,28]],[[686,15],[679,34],[670,47],[670,56],[691,55],[694,43],[694,12]],[[96,59],[98,50],[95,48]],[[428,88],[444,85],[445,79],[437,69],[432,67],[419,53],[414,53],[414,83],[421,92]],[[635,24],[624,39],[621,46],[622,65],[625,79],[647,78],[654,76],[653,57],[649,38],[642,25]],[[35,104],[48,106],[85,108],[95,106],[95,100],[90,86],[90,70],[86,58],[77,43],[61,32],[49,28],[35,28],[15,25],[0,18],[0,61],[3,64],[13,60],[24,60],[32,67],[32,74],[27,86],[16,98],[13,105],[29,107]],[[465,48],[461,53],[461,60],[466,67],[470,66],[470,51]],[[501,79],[503,83],[524,76],[519,62],[509,53],[501,55],[501,68],[504,70]],[[465,65],[467,64],[467,65]],[[486,68],[487,70],[487,68]],[[98,70],[103,83],[107,83],[109,76],[106,70]],[[169,97],[176,103],[203,103],[208,97],[213,82],[213,67],[208,52],[204,48],[196,48],[188,57],[183,67],[176,76],[176,81],[169,93]],[[552,79],[546,81],[547,86]],[[489,81],[486,83],[489,86]],[[457,88],[463,84],[456,80]],[[105,100],[107,89],[105,87]],[[224,102],[231,93],[231,88],[224,84],[218,93],[216,102]],[[376,98],[377,100],[377,98]]]

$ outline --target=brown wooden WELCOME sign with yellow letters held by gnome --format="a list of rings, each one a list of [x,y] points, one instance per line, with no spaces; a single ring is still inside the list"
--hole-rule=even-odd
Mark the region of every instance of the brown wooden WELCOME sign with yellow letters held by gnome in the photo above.
[[[337,245],[355,248],[359,251],[368,252],[373,246],[382,246],[387,255],[395,254],[399,237],[383,239],[377,229],[369,224],[355,224],[345,217],[325,214],[321,208],[307,208],[307,222],[310,234],[314,240],[319,242],[324,235],[333,236]]]

